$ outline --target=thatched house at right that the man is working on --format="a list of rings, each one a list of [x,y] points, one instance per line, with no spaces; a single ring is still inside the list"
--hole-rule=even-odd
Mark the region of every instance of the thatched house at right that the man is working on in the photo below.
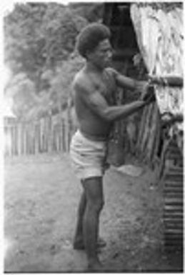
[[[107,3],[104,24],[111,29],[117,69],[139,79],[146,79],[146,74],[161,77],[161,84],[154,86],[156,102],[146,106],[136,119],[116,125],[116,161],[120,162],[120,151],[125,151],[132,136],[137,136],[133,151],[155,169],[156,181],[163,187],[165,247],[182,250],[183,4]],[[137,72],[133,60],[140,64]],[[128,93],[121,94],[119,103],[128,101]]]

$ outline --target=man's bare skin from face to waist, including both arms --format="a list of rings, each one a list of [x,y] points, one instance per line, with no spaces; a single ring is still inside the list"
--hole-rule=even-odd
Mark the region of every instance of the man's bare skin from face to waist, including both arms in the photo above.
[[[142,91],[146,88],[146,82],[135,81],[114,69],[104,67],[109,64],[111,56],[109,40],[101,42],[96,52],[89,56],[86,66],[74,79],[76,115],[79,128],[86,136],[104,140],[109,135],[113,121],[124,119],[146,104],[139,100],[124,106],[111,106],[111,98],[117,86]]]

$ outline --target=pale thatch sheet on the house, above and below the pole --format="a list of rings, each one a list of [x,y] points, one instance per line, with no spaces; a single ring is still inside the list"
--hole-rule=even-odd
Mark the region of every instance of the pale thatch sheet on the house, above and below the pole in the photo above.
[[[149,74],[183,77],[181,3],[132,4],[131,19]],[[183,114],[183,89],[156,86],[156,99],[161,114]]]

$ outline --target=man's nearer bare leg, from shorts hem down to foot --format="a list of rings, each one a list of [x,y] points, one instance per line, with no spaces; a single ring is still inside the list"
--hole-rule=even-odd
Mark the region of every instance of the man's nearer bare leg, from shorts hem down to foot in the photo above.
[[[84,244],[89,269],[101,269],[96,250],[99,232],[99,214],[104,205],[103,184],[101,177],[92,177],[82,182],[86,194],[86,209],[83,221]]]

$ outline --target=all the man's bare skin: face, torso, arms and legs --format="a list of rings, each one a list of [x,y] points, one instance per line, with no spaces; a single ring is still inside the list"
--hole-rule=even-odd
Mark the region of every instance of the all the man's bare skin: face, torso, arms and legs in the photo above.
[[[114,106],[112,100],[117,86],[146,93],[146,82],[135,81],[109,68],[111,45],[105,39],[94,51],[86,51],[86,64],[74,79],[74,104],[79,129],[89,139],[106,140],[114,121],[124,119],[149,104],[138,100],[131,104]],[[74,238],[76,244],[84,244],[89,269],[101,270],[96,246],[99,233],[99,214],[104,205],[102,177],[83,179],[83,194]]]

